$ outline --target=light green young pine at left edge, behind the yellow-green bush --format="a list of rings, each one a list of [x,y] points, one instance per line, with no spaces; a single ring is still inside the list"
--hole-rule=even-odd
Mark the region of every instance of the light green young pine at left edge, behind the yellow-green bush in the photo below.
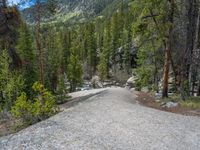
[[[0,55],[0,109],[10,110],[23,88],[22,76],[10,70],[11,59],[6,50]]]

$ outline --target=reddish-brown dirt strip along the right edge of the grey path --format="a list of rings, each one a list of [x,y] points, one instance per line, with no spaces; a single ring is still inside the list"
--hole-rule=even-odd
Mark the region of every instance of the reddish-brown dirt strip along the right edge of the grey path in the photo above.
[[[150,93],[137,92],[136,95],[137,95],[136,100],[141,105],[162,110],[162,111],[176,113],[176,114],[200,117],[200,109],[185,108],[185,107],[181,107],[181,105],[178,105],[177,107],[173,107],[173,108],[164,108],[161,106],[160,102],[155,101],[155,98]]]

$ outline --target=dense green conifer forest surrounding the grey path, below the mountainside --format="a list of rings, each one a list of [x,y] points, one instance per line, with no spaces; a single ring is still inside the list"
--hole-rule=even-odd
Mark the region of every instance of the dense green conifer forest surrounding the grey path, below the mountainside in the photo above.
[[[47,1],[46,13],[54,16],[57,6]],[[0,0],[2,112],[37,122],[95,75],[122,84],[134,76],[136,89],[163,98],[200,96],[199,0],[119,0],[111,15],[73,24],[43,22],[42,2],[34,7],[27,23],[17,6]]]

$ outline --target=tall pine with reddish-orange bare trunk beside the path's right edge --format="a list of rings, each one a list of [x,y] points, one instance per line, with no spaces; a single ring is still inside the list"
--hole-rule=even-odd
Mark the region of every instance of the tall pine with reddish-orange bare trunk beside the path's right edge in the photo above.
[[[170,64],[172,61],[172,38],[173,38],[173,21],[175,13],[175,3],[172,1],[134,1],[133,5],[134,14],[137,17],[137,21],[134,26],[136,39],[140,42],[147,43],[151,49],[155,48],[155,45],[162,43],[164,50],[164,71],[163,71],[163,98],[168,97],[168,79]],[[155,7],[156,6],[156,7]],[[168,6],[168,7],[166,7]],[[152,41],[154,44],[152,44]],[[149,44],[148,44],[149,42]],[[143,45],[144,45],[143,43]],[[138,44],[139,45],[139,44]],[[144,48],[144,46],[142,47]]]

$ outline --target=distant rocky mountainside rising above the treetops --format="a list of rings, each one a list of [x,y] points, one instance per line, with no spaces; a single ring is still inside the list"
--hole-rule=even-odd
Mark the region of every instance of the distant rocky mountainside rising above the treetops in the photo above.
[[[130,0],[124,0],[128,3]],[[122,0],[58,0],[55,15],[46,13],[46,3],[42,7],[44,10],[44,22],[83,22],[99,15],[109,15],[115,11]],[[22,10],[22,16],[27,22],[34,22],[34,6]]]

